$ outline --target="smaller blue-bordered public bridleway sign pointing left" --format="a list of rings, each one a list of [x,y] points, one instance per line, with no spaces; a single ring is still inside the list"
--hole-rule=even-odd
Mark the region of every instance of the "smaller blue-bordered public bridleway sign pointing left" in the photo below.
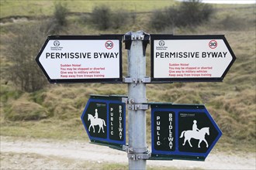
[[[81,121],[92,143],[119,149],[126,144],[126,104],[122,98],[91,95]]]

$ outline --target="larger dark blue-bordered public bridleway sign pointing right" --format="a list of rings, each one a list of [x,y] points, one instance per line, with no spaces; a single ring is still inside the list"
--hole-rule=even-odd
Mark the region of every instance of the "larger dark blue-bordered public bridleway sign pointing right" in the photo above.
[[[150,159],[206,159],[222,132],[204,105],[151,104]]]

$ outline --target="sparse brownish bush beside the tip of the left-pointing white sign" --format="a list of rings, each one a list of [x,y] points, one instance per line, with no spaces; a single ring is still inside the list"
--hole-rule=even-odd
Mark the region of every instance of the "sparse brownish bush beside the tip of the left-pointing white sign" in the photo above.
[[[35,58],[46,39],[48,32],[42,25],[26,25],[12,28],[12,36],[5,39],[6,48],[4,56],[9,61],[9,66],[4,70],[6,80],[12,80],[19,90],[33,92],[43,89],[47,79]]]

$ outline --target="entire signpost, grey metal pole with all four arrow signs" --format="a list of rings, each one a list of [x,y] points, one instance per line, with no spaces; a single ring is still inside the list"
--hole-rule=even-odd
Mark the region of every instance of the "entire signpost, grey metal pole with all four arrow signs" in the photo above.
[[[128,76],[122,77],[122,39]],[[146,48],[151,41],[151,77]],[[224,36],[48,36],[36,63],[50,83],[127,83],[128,98],[92,95],[81,115],[90,141],[127,152],[130,169],[147,159],[205,160],[222,132],[204,105],[148,104],[146,83],[222,81],[236,57]],[[124,99],[126,98],[126,99]],[[129,144],[126,145],[126,104]],[[146,110],[151,107],[152,152]]]

